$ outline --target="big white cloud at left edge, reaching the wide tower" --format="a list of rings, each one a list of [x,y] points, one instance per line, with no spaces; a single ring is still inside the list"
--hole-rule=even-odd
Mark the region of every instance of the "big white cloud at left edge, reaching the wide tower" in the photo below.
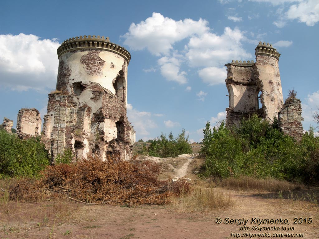
[[[56,86],[57,39],[35,35],[0,35],[1,83],[11,90],[53,89]]]

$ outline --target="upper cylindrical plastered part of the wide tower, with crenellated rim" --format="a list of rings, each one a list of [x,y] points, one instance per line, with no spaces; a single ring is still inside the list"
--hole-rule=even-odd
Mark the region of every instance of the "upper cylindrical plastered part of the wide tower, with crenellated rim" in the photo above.
[[[127,102],[127,67],[130,53],[108,37],[80,36],[65,40],[57,49],[57,91],[78,95],[88,83],[98,83]]]

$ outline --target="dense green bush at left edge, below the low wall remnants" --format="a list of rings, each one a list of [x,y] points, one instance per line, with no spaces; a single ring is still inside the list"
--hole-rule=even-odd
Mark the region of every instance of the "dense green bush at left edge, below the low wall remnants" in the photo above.
[[[40,137],[27,140],[0,130],[0,177],[35,177],[49,164]]]

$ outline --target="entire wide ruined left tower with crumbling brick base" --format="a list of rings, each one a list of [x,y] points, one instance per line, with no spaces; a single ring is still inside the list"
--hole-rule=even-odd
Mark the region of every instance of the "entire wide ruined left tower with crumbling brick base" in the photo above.
[[[52,161],[65,148],[76,157],[129,159],[135,141],[126,117],[130,53],[108,37],[89,35],[65,40],[57,54],[56,92],[49,94],[42,137]]]

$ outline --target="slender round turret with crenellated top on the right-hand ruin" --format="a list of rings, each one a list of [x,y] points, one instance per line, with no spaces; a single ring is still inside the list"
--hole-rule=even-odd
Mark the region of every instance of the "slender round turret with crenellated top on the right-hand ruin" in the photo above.
[[[274,117],[278,117],[278,112],[284,104],[278,67],[280,54],[271,44],[260,41],[255,48],[255,55],[258,84],[262,92],[260,99],[263,115],[272,121]]]

